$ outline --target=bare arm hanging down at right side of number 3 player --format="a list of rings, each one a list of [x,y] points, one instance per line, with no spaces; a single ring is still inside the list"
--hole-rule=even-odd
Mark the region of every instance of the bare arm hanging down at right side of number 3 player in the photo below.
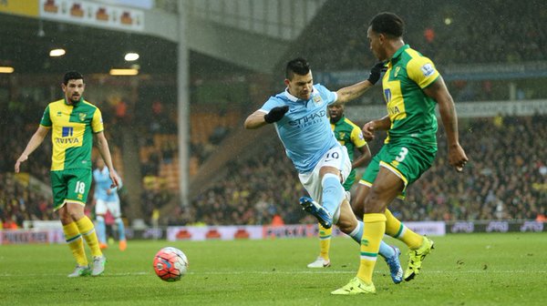
[[[445,85],[442,76],[439,76],[435,82],[425,88],[424,92],[439,104],[439,113],[449,144],[449,164],[456,170],[462,171],[468,157],[459,145],[458,115],[456,115],[454,100],[450,96],[449,89]]]

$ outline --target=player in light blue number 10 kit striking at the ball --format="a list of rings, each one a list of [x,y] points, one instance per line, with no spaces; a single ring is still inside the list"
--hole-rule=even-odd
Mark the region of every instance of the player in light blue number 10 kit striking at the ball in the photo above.
[[[249,129],[274,124],[287,157],[298,171],[300,182],[312,197],[300,199],[304,210],[314,215],[325,229],[336,224],[359,244],[363,222],[356,219],[342,187],[351,171],[351,160],[346,147],[336,140],[326,114],[329,105],[344,104],[373,87],[383,67],[378,63],[365,81],[333,92],[320,84],[314,85],[308,62],[295,58],[285,69],[287,87],[284,92],[270,97],[245,120],[245,128]],[[383,244],[387,251],[385,257],[393,259],[397,266],[396,277],[392,273],[392,278],[398,283],[403,274],[398,253],[385,242]]]

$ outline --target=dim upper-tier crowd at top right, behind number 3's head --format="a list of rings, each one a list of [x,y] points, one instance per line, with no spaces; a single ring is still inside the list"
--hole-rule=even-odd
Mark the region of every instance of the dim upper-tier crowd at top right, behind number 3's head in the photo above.
[[[410,25],[405,41],[443,66],[547,60],[547,29],[542,24],[547,7],[537,0],[463,0],[457,5],[410,0],[331,3],[337,9],[325,10],[322,20],[336,20],[337,26],[322,27],[306,36],[310,41],[320,38],[322,44],[302,44],[303,54],[309,54],[310,62],[325,71],[371,66],[375,59],[366,37],[368,22],[390,3],[401,9],[423,8],[398,12]]]

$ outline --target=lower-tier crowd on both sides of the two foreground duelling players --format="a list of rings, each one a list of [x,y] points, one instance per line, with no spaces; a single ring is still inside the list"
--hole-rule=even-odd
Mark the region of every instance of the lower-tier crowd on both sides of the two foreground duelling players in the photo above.
[[[462,120],[460,142],[470,152],[463,173],[446,162],[439,138],[434,166],[391,207],[402,220],[542,219],[547,208],[547,117]],[[442,135],[442,133],[439,133]],[[381,140],[370,143],[377,152]],[[276,153],[277,152],[277,153]],[[192,201],[195,219],[207,224],[263,224],[281,215],[285,223],[314,222],[297,199],[305,191],[283,150],[238,161],[229,175]],[[441,179],[442,178],[442,179]]]

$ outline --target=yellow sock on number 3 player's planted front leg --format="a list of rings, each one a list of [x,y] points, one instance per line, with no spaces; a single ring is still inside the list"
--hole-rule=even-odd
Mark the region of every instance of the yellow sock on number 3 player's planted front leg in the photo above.
[[[372,272],[376,265],[380,241],[386,232],[386,215],[382,213],[371,213],[363,216],[365,226],[363,238],[361,239],[361,261],[357,277],[367,284],[372,283]]]

